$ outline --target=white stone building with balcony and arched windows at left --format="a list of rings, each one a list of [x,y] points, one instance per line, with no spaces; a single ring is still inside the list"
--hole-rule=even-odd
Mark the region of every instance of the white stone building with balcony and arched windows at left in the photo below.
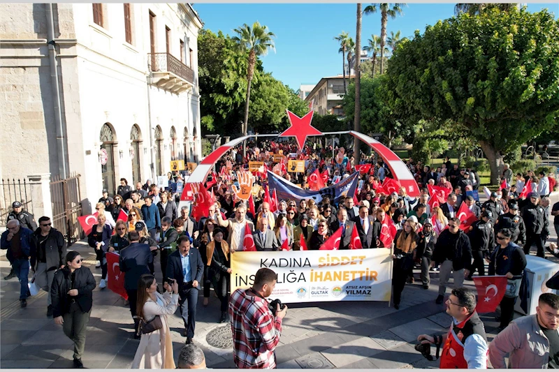
[[[1,4],[1,177],[80,174],[86,213],[198,161],[201,27],[188,3]]]

